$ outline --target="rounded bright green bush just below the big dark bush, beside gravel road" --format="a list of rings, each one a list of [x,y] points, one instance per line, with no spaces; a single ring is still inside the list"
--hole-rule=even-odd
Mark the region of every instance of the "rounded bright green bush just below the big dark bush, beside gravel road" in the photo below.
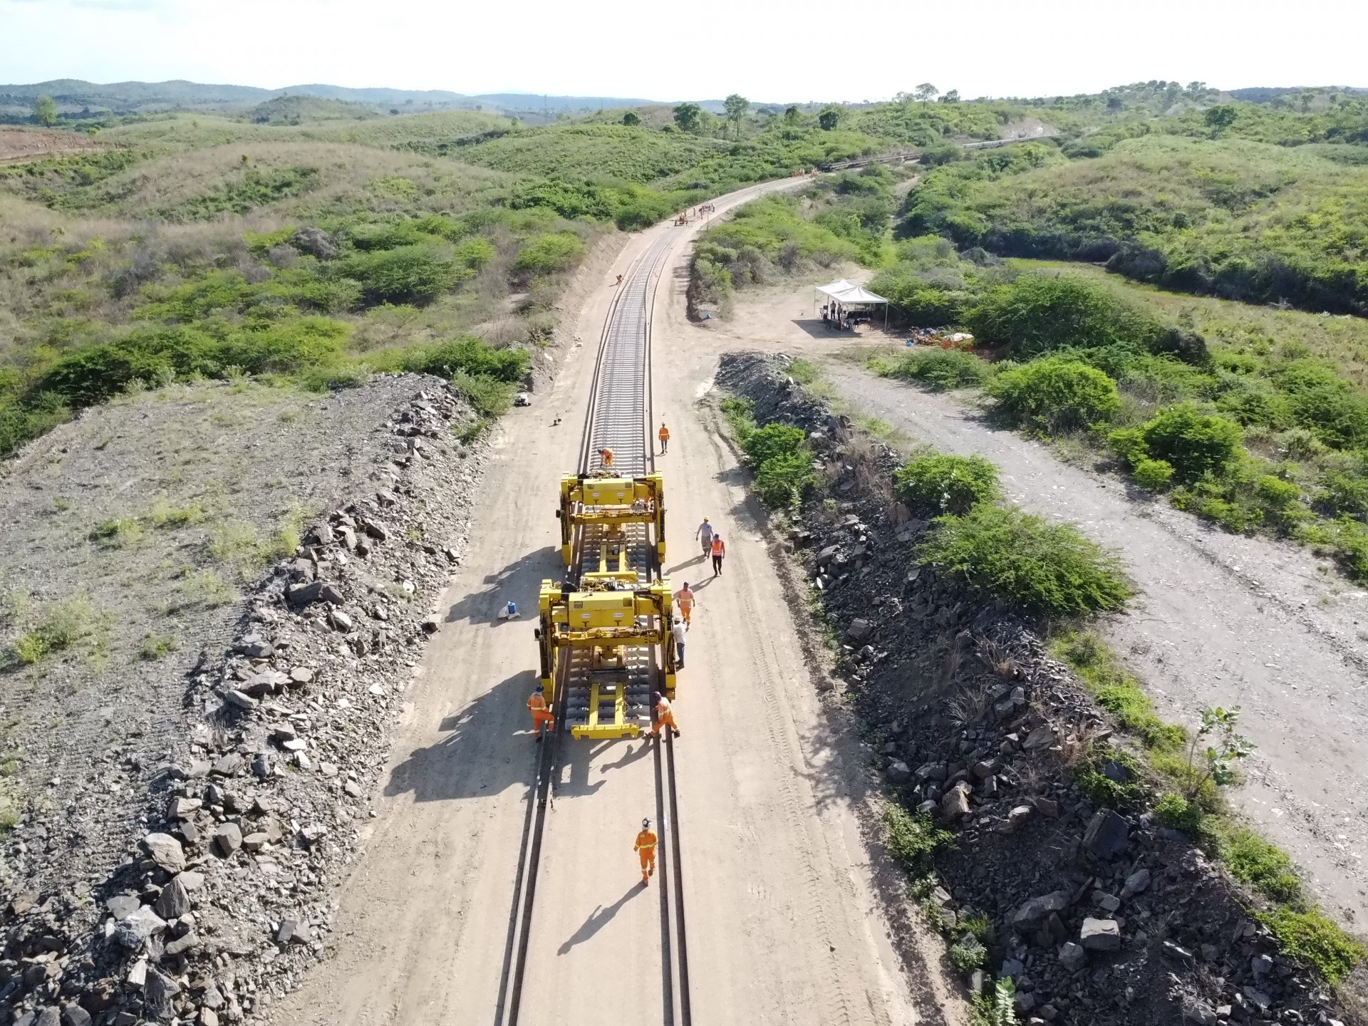
[[[1094,367],[1063,357],[1003,371],[989,383],[988,394],[1015,423],[1038,431],[1090,428],[1120,409],[1116,382]]]

